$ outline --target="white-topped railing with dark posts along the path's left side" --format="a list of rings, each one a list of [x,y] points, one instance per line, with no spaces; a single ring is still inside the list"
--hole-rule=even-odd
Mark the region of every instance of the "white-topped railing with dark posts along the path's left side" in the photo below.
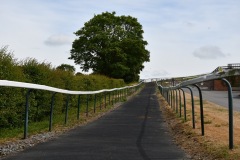
[[[127,97],[128,95],[133,94],[136,92],[140,86],[143,84],[143,82],[140,82],[137,85],[133,86],[125,86],[122,88],[113,88],[113,89],[103,89],[103,90],[97,90],[97,91],[71,91],[71,90],[64,90],[59,88],[54,88],[46,85],[39,85],[39,84],[32,84],[32,83],[24,83],[24,82],[16,82],[16,81],[8,81],[8,80],[0,80],[0,86],[2,87],[17,87],[17,88],[25,88],[27,89],[26,93],[26,105],[25,105],[25,117],[24,117],[24,139],[28,136],[28,119],[29,119],[29,98],[30,93],[33,90],[44,90],[52,92],[52,98],[51,98],[51,106],[50,106],[50,119],[49,119],[49,131],[52,130],[52,123],[53,123],[53,106],[54,106],[54,98],[57,93],[66,94],[66,108],[65,108],[65,124],[67,124],[68,120],[68,102],[70,95],[78,95],[78,101],[77,101],[77,119],[80,118],[80,95],[87,95],[87,103],[86,103],[86,116],[88,116],[89,112],[89,98],[88,95],[94,95],[94,109],[93,112],[96,111],[96,95],[104,93],[104,103],[105,107],[107,105],[107,94],[108,94],[108,104],[114,104],[121,99],[124,99],[124,97]],[[111,99],[112,98],[112,99]]]

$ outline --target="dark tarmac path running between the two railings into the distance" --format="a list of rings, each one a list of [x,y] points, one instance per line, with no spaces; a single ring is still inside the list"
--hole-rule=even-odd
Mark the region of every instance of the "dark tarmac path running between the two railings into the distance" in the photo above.
[[[155,84],[148,83],[138,95],[100,119],[7,159],[187,159],[168,134],[155,91]]]

